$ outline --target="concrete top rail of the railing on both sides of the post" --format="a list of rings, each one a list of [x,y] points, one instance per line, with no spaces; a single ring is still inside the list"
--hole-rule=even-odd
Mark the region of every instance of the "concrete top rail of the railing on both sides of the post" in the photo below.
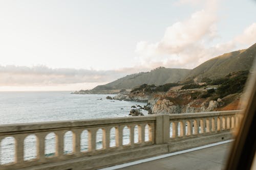
[[[240,113],[241,110],[233,111],[217,111],[217,112],[201,112],[201,113],[182,113],[169,115],[170,120],[180,120],[189,118],[203,118],[213,117],[218,115],[232,115]],[[162,114],[148,115],[148,116],[136,116],[136,117],[115,117],[115,118],[97,118],[97,119],[83,119],[83,120],[67,120],[67,121],[55,121],[55,122],[42,122],[42,123],[23,123],[23,124],[7,124],[0,125],[0,135],[5,133],[27,133],[27,132],[43,132],[63,129],[79,129],[90,127],[104,127],[111,125],[122,124],[136,124],[154,122],[157,116]]]

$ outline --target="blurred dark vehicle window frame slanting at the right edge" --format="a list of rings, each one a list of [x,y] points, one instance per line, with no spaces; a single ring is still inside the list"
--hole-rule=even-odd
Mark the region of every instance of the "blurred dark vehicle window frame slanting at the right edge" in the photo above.
[[[253,159],[256,149],[256,60],[244,92],[241,106],[244,108],[244,118],[229,155],[227,170],[249,170],[252,168],[252,163],[255,164]]]

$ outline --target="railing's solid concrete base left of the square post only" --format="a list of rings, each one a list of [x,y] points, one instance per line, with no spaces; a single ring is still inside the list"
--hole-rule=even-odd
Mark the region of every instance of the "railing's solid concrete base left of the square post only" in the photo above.
[[[61,162],[47,163],[38,166],[21,168],[20,170],[88,170],[135,161],[168,153],[167,144],[156,144],[146,147],[116,151],[108,154],[87,156]]]

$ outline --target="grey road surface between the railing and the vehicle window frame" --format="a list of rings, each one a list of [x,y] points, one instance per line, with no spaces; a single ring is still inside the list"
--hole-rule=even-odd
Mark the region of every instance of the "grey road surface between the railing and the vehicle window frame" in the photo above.
[[[170,156],[150,162],[140,163],[120,170],[149,169],[223,169],[231,148],[231,143],[220,144],[197,151]]]

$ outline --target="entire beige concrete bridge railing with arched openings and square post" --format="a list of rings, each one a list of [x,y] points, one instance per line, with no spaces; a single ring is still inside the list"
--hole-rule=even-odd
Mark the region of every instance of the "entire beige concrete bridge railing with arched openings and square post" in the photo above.
[[[227,140],[231,138],[230,130],[241,121],[239,112],[2,125],[0,141],[13,138],[14,159],[7,164],[2,162],[0,169],[94,169]],[[65,152],[65,134],[69,131],[72,132],[73,147],[71,152]],[[82,140],[85,132],[86,141]],[[55,151],[51,156],[45,152],[49,133],[55,136]],[[26,160],[24,145],[29,135],[35,136],[36,154],[33,159]],[[87,142],[87,150],[82,149],[82,142]],[[1,155],[5,156],[3,150]]]

